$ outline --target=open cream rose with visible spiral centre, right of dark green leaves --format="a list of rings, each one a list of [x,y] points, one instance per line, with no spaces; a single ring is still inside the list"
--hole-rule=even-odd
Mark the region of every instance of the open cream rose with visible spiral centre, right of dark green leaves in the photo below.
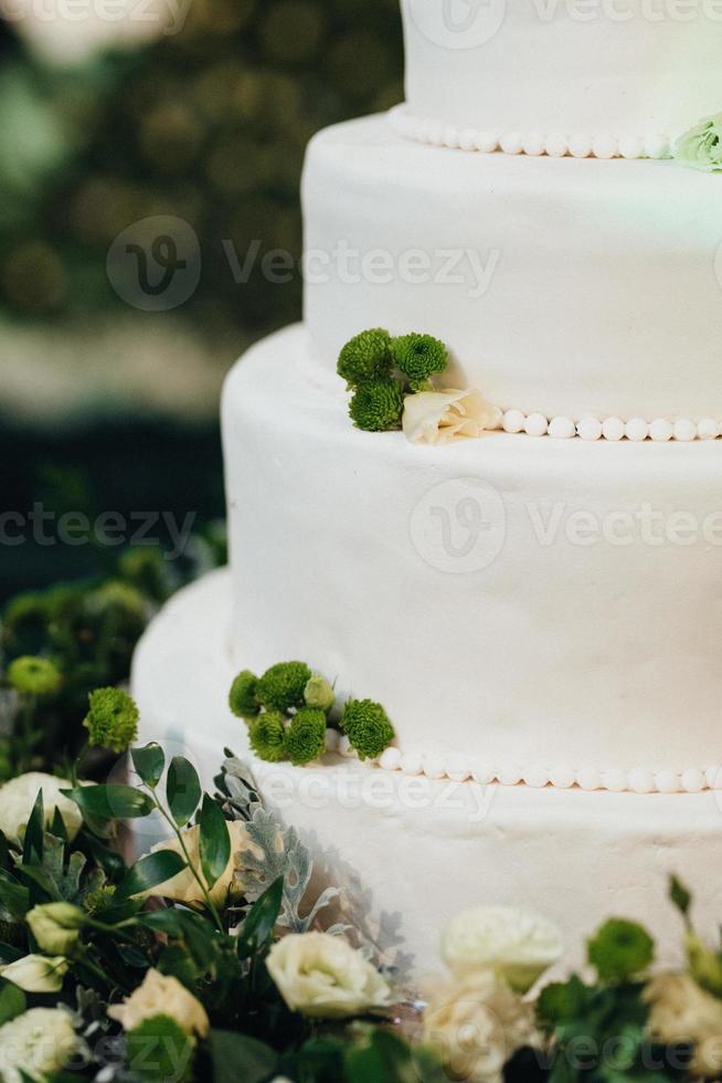
[[[294,933],[272,947],[266,966],[291,1011],[343,1019],[389,1005],[391,990],[348,940],[329,933]]]

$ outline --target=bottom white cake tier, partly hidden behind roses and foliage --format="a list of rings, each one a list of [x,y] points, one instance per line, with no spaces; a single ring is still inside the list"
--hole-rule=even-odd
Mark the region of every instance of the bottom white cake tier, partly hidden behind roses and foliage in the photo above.
[[[658,963],[672,965],[681,943],[667,902],[672,872],[694,891],[701,930],[718,928],[710,869],[722,859],[722,792],[484,786],[338,756],[307,768],[261,764],[227,707],[237,664],[231,618],[223,570],[178,595],[150,625],[132,673],[140,740],[188,756],[206,788],[224,747],[245,759],[266,802],[310,845],[319,873],[342,889],[346,912],[402,974],[437,969],[444,924],[480,903],[533,906],[556,922],[566,969],[612,915],[645,923],[658,937]],[[242,629],[237,650],[251,651],[255,635],[253,625]],[[138,838],[138,849],[151,841]]]

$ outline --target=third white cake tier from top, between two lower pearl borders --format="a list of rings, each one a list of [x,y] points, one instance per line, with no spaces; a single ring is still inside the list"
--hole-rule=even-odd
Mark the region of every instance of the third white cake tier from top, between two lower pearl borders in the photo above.
[[[428,777],[666,791],[722,763],[714,442],[359,432],[301,327],[233,370],[223,433],[240,665],[382,702]]]

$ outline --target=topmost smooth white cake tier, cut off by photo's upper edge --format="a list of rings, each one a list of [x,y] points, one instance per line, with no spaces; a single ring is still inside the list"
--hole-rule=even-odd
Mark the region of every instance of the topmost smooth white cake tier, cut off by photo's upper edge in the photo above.
[[[720,0],[402,7],[407,109],[431,141],[537,133],[634,149],[722,109]]]

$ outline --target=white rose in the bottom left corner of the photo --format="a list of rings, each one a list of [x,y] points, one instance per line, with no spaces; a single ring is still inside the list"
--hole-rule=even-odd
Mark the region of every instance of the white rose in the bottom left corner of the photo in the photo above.
[[[62,1008],[32,1008],[0,1027],[0,1079],[21,1083],[42,1080],[66,1068],[82,1042]]]

